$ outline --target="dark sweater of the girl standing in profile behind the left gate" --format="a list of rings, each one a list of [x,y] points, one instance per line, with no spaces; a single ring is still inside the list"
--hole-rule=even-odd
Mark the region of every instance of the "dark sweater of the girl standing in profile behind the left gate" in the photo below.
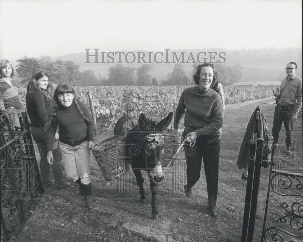
[[[36,128],[44,127],[48,120],[48,113],[51,108],[52,100],[44,96],[42,92],[30,92],[25,97],[26,108],[31,126]]]

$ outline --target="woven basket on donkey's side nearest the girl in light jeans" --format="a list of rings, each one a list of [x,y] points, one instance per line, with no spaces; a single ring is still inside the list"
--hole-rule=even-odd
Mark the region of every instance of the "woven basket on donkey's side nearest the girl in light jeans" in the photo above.
[[[92,153],[107,181],[118,178],[127,169],[125,168],[125,137],[123,135],[103,140],[95,145]]]

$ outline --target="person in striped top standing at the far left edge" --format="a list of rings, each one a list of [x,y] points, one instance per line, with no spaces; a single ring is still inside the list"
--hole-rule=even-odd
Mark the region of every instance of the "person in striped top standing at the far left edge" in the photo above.
[[[16,71],[9,60],[0,60],[0,114],[7,117],[9,123],[21,128],[19,116],[24,112],[15,81]]]

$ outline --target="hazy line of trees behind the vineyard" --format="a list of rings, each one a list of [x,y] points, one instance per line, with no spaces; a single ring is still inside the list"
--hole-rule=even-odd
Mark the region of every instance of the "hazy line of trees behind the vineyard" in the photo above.
[[[157,80],[151,76],[152,66],[143,64],[139,68],[132,68],[117,64],[108,69],[108,78],[97,78],[93,70],[80,71],[79,65],[73,61],[56,60],[52,61],[49,56],[41,58],[23,57],[17,60],[16,71],[21,83],[28,83],[32,72],[35,69],[42,69],[48,72],[49,79],[55,83],[69,83],[71,85],[94,85],[98,81],[101,85],[137,85],[137,86],[157,86],[157,85],[194,85],[192,76],[195,73],[196,64],[193,65],[190,79],[185,73],[182,64],[176,64],[171,73],[168,73],[166,80]],[[215,65],[218,72],[217,80],[223,85],[231,85],[243,81],[243,67],[241,64],[225,66]]]

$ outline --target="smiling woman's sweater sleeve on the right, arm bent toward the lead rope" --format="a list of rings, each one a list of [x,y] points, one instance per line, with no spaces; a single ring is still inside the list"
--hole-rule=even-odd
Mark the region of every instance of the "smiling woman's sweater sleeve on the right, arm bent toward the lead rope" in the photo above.
[[[218,95],[218,94],[217,94]],[[211,107],[212,120],[211,122],[201,128],[196,130],[197,136],[209,135],[220,129],[223,125],[223,107],[222,102],[219,98],[215,100]]]

